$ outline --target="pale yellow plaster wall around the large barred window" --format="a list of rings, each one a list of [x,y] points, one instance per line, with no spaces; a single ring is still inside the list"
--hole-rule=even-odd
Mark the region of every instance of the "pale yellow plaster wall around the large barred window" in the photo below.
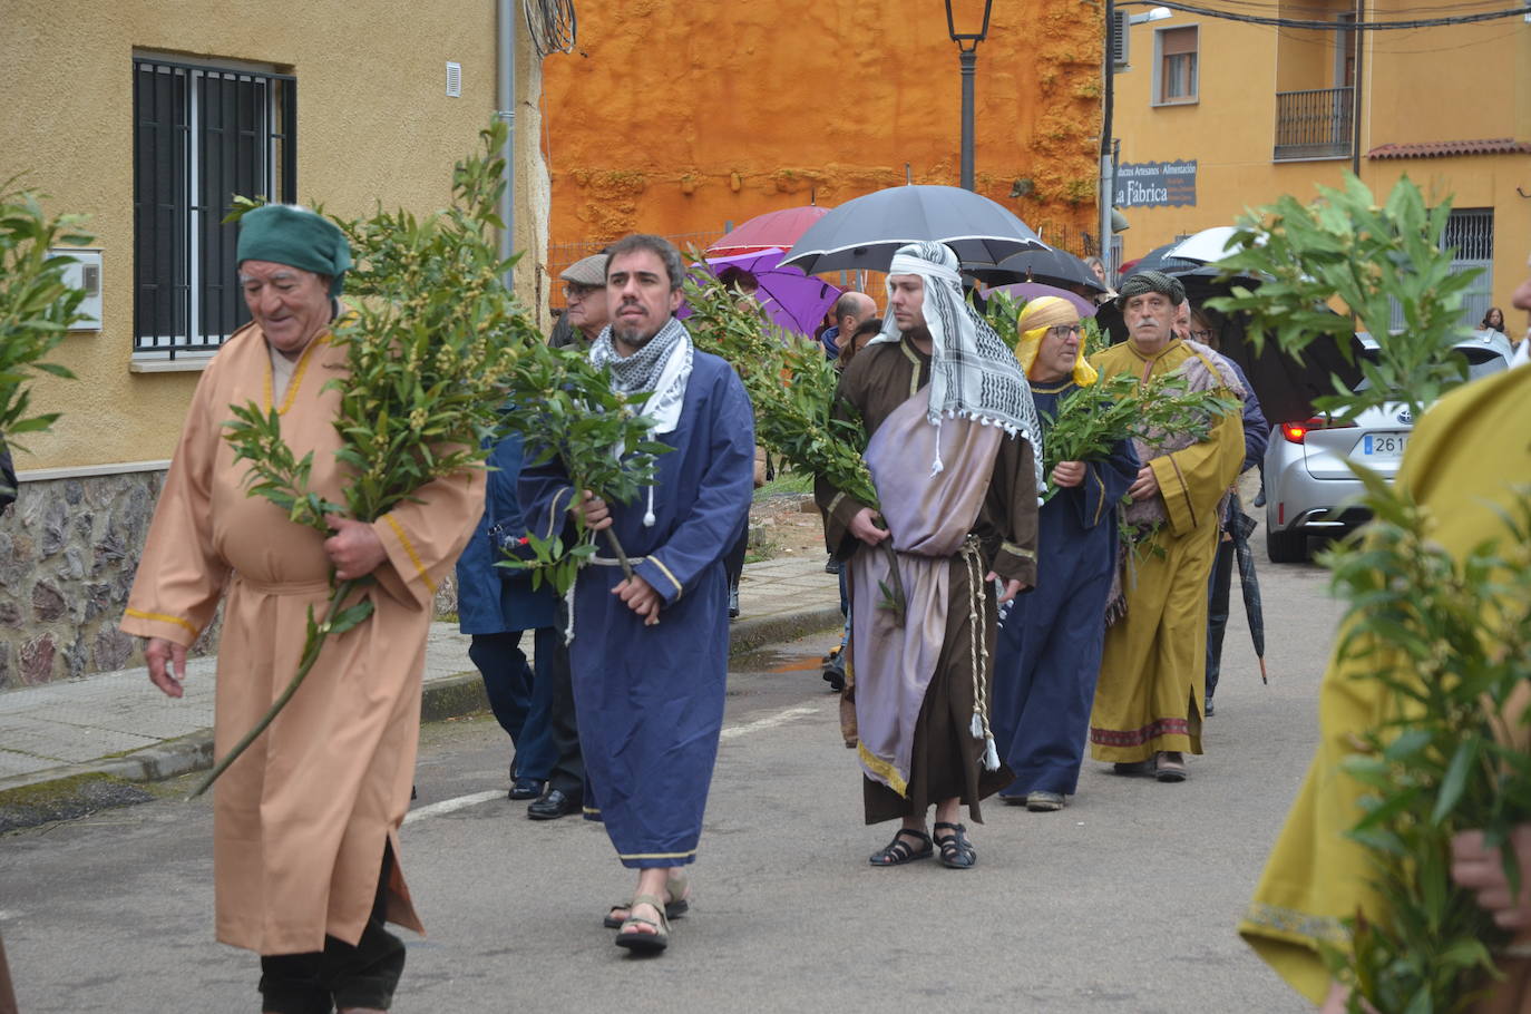
[[[545,239],[539,179],[539,64],[517,57],[517,247]],[[61,411],[31,435],[18,469],[168,458],[201,374],[135,374],[133,55],[242,60],[297,75],[297,195],[335,214],[374,202],[419,213],[444,207],[452,164],[478,147],[496,109],[495,5],[488,0],[3,0],[0,3],[0,181],[51,195],[51,211],[90,216],[103,248],[100,332],[75,332],[55,355],[78,381],[41,380],[37,411]],[[462,96],[446,95],[446,63],[462,64]],[[534,260],[534,259],[533,259]],[[531,260],[517,288],[534,297]]]

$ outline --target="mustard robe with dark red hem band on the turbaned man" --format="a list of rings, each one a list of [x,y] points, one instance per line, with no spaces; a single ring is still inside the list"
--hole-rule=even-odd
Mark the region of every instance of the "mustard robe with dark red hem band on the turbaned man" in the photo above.
[[[1193,355],[1183,342],[1171,342],[1154,357],[1122,342],[1098,354],[1095,366],[1105,378],[1133,374],[1145,381]],[[1236,414],[1219,418],[1199,444],[1145,458],[1168,519],[1138,553],[1127,581],[1127,616],[1105,631],[1090,714],[1095,760],[1131,763],[1159,751],[1202,752],[1206,579],[1217,553],[1217,502],[1237,478],[1243,453],[1243,421]]]

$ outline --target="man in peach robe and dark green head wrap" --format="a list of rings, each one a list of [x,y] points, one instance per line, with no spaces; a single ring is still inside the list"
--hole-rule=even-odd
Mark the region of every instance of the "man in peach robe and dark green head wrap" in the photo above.
[[[214,752],[225,754],[297,671],[308,611],[371,574],[372,616],[331,637],[286,709],[217,783],[217,939],[257,951],[273,1014],[387,1009],[404,967],[384,921],[423,931],[398,865],[419,732],[436,584],[482,510],[482,472],[423,486],[377,522],[334,518],[331,538],[251,496],[222,437],[231,404],[276,407],[309,489],[344,502],[332,426],[346,351],[331,322],[351,267],[344,236],[306,208],[240,224],[239,282],[254,319],[197,383],[155,509],[122,630],[149,639],[150,680],[181,697],[187,646],[227,591]]]

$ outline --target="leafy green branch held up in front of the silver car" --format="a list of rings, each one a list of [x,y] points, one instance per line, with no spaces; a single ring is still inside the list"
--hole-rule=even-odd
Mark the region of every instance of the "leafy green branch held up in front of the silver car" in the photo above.
[[[1352,392],[1337,380],[1337,394],[1315,406],[1349,421],[1369,407],[1401,401],[1418,418],[1467,377],[1467,363],[1451,346],[1467,334],[1462,296],[1477,271],[1453,274],[1451,251],[1441,248],[1451,202],[1427,207],[1407,176],[1381,207],[1349,173],[1341,190],[1318,191],[1311,205],[1285,196],[1240,219],[1232,242],[1243,248],[1219,267],[1266,280],[1255,289],[1234,285],[1231,296],[1208,305],[1249,314],[1257,349],[1271,332],[1297,357],[1321,337],[1335,339],[1350,357],[1350,335],[1370,332],[1381,355],[1361,363],[1367,389]],[[1324,303],[1332,297],[1353,317],[1330,312]],[[1390,331],[1395,303],[1404,312],[1396,334]]]

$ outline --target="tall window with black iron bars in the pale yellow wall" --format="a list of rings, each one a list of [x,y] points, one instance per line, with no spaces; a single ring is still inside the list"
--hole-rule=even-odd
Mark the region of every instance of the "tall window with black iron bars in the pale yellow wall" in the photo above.
[[[291,75],[133,58],[133,354],[214,352],[250,320],[234,195],[297,195]]]

